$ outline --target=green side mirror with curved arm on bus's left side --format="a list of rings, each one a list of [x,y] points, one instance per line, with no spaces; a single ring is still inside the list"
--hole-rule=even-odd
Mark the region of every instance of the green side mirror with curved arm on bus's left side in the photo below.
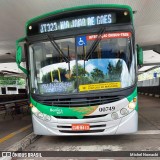
[[[16,63],[18,65],[18,68],[21,69],[25,74],[28,74],[27,72],[27,69],[23,68],[21,66],[21,62],[22,62],[22,52],[23,52],[23,49],[22,47],[19,45],[20,42],[24,42],[25,41],[25,38],[21,38],[21,39],[18,39],[16,41]]]

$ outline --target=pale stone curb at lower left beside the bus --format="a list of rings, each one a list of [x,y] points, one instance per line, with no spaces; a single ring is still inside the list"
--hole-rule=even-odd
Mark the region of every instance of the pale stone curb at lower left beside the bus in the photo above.
[[[33,132],[28,136],[24,137],[19,142],[13,144],[12,146],[5,149],[5,151],[23,151],[26,147],[28,147],[31,143],[35,142],[41,136],[36,135]]]

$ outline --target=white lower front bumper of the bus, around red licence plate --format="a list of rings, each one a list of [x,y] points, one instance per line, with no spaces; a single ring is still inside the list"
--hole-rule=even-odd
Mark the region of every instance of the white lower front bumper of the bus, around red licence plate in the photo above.
[[[46,122],[32,114],[33,129],[37,135],[119,135],[130,134],[138,130],[138,113],[132,111],[117,120],[106,121],[105,117],[90,119],[56,119]],[[72,124],[89,124],[89,131],[72,131]]]

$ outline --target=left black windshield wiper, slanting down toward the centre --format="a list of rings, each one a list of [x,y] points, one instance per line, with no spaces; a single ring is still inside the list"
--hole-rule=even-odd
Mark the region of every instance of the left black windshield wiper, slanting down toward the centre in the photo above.
[[[51,37],[50,35],[47,34],[47,37],[49,39],[49,41],[51,42],[51,44],[53,45],[53,47],[57,50],[57,52],[62,56],[63,60],[67,63],[69,63],[69,59],[67,58],[67,56],[65,56],[65,54],[63,53],[63,51],[60,49],[60,47],[58,46],[58,44],[56,43],[56,41],[53,39],[53,36]]]

